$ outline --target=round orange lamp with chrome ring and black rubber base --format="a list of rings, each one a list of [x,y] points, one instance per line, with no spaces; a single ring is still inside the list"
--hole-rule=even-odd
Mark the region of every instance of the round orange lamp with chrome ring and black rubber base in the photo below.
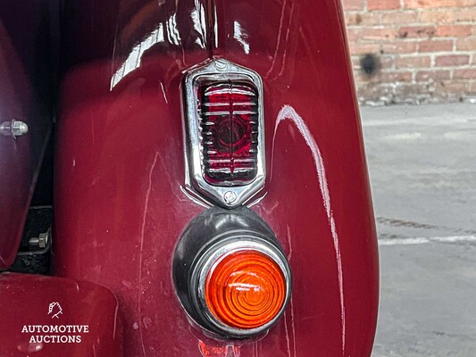
[[[288,260],[271,228],[246,208],[197,216],[180,238],[173,277],[188,316],[222,337],[262,334],[291,293]]]

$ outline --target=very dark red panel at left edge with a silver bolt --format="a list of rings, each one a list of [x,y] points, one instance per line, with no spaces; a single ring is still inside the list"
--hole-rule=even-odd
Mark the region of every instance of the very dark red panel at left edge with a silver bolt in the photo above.
[[[0,136],[0,270],[13,262],[52,125],[48,6],[0,3],[0,123],[21,120],[25,137]]]

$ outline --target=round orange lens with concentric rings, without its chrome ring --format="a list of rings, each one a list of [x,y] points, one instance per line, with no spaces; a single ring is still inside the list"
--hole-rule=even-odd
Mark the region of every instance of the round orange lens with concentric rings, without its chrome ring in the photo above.
[[[276,317],[285,299],[286,279],[280,266],[254,250],[230,253],[206,278],[209,310],[232,328],[263,326]]]

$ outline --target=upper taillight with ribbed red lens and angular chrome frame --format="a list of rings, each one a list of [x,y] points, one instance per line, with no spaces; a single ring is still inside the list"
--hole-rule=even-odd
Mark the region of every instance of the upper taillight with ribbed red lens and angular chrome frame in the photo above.
[[[263,187],[263,84],[255,71],[214,60],[185,79],[187,186],[233,208]]]

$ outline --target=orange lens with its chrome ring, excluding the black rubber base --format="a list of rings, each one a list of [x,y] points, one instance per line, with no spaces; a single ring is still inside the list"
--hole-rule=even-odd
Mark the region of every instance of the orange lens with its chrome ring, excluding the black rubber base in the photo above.
[[[255,336],[280,319],[291,292],[288,261],[270,242],[228,237],[208,248],[191,277],[198,311],[228,336]]]

